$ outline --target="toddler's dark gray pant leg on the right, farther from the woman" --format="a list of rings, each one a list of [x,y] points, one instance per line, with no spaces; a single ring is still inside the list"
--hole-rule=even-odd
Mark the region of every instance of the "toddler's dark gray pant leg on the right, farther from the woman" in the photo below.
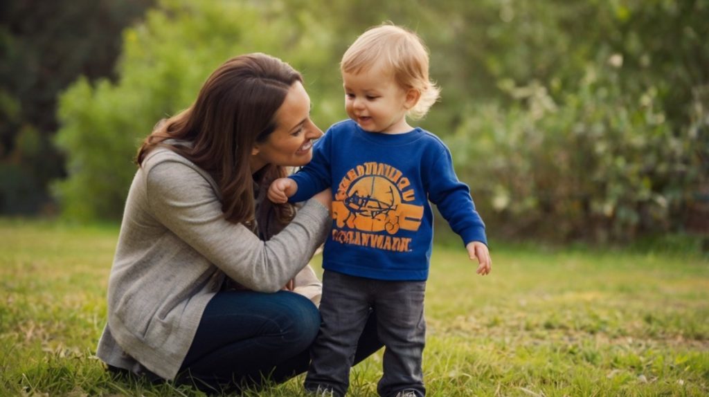
[[[379,282],[374,309],[379,340],[384,343],[384,376],[380,396],[412,390],[425,396],[421,359],[425,345],[425,282]]]

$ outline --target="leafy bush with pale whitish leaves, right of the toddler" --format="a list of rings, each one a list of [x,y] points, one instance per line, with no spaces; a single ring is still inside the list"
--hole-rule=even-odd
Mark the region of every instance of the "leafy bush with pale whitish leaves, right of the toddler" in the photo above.
[[[688,187],[706,175],[706,134],[672,125],[652,87],[625,93],[610,64],[559,103],[540,84],[506,82],[508,110],[471,109],[450,142],[492,229],[628,241],[681,226]]]

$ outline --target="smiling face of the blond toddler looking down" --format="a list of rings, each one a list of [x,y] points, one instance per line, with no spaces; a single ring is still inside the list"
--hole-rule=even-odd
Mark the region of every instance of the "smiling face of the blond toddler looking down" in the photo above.
[[[393,75],[381,66],[359,74],[342,73],[345,87],[345,110],[362,130],[383,134],[401,134],[411,130],[406,111],[418,96],[401,88]]]

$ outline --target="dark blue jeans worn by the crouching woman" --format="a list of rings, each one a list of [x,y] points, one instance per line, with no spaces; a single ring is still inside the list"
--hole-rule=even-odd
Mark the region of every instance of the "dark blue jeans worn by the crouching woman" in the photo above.
[[[293,292],[219,292],[206,306],[178,382],[222,391],[286,381],[308,369],[319,327],[316,306]],[[354,361],[381,346],[372,315]]]

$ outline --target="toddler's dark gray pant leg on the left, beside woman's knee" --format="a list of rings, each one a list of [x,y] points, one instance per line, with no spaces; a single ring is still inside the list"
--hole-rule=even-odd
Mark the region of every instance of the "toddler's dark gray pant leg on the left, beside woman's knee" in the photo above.
[[[367,282],[337,272],[323,274],[323,322],[311,347],[311,365],[304,386],[309,391],[332,389],[344,396],[350,385],[350,368],[359,335],[370,313]]]

